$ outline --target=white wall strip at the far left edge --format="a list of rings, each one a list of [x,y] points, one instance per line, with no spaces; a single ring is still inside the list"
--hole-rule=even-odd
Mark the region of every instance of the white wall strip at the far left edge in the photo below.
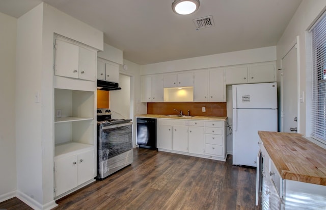
[[[0,13],[0,202],[15,196],[17,19]]]

